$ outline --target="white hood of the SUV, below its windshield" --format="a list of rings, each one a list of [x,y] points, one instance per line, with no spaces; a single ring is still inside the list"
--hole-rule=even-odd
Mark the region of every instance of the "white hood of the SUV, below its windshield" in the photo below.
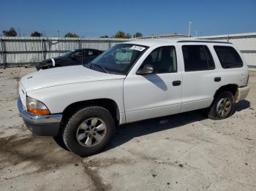
[[[31,91],[56,85],[124,78],[124,75],[107,74],[84,66],[65,66],[28,74],[21,79],[21,83],[26,91]]]

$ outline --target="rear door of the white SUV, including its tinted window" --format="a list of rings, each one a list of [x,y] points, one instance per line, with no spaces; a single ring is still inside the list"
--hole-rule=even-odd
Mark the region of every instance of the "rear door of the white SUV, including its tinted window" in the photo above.
[[[206,108],[222,85],[222,75],[206,44],[183,44],[184,71],[181,112]]]

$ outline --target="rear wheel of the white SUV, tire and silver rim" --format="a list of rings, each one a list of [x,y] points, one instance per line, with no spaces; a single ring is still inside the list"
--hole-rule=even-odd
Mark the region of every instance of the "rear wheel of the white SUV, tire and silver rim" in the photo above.
[[[224,104],[225,100],[230,101],[230,109],[229,107],[228,109],[224,108],[225,106],[223,105],[226,105]],[[221,109],[222,109],[222,112],[221,112]],[[219,93],[219,95],[217,95],[217,97],[214,99],[213,104],[211,104],[211,107],[208,112],[208,118],[210,118],[211,120],[223,120],[227,117],[230,117],[230,115],[233,114],[233,110],[234,110],[233,93],[229,91],[225,91],[225,92]],[[223,114],[223,111],[224,111],[224,114]]]

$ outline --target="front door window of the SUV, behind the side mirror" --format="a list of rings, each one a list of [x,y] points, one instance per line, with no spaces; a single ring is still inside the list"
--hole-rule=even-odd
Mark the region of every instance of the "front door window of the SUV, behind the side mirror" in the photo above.
[[[146,64],[154,67],[154,73],[170,73],[177,71],[176,50],[173,46],[158,47],[143,61],[140,69]]]

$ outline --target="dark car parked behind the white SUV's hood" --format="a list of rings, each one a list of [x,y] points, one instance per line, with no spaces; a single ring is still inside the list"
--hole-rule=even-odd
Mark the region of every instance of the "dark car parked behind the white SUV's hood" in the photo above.
[[[37,70],[41,69],[50,69],[53,67],[61,66],[73,66],[73,65],[82,65],[91,62],[98,55],[102,53],[101,50],[95,49],[78,49],[78,50],[69,50],[63,55],[57,58],[48,58],[39,63]]]

